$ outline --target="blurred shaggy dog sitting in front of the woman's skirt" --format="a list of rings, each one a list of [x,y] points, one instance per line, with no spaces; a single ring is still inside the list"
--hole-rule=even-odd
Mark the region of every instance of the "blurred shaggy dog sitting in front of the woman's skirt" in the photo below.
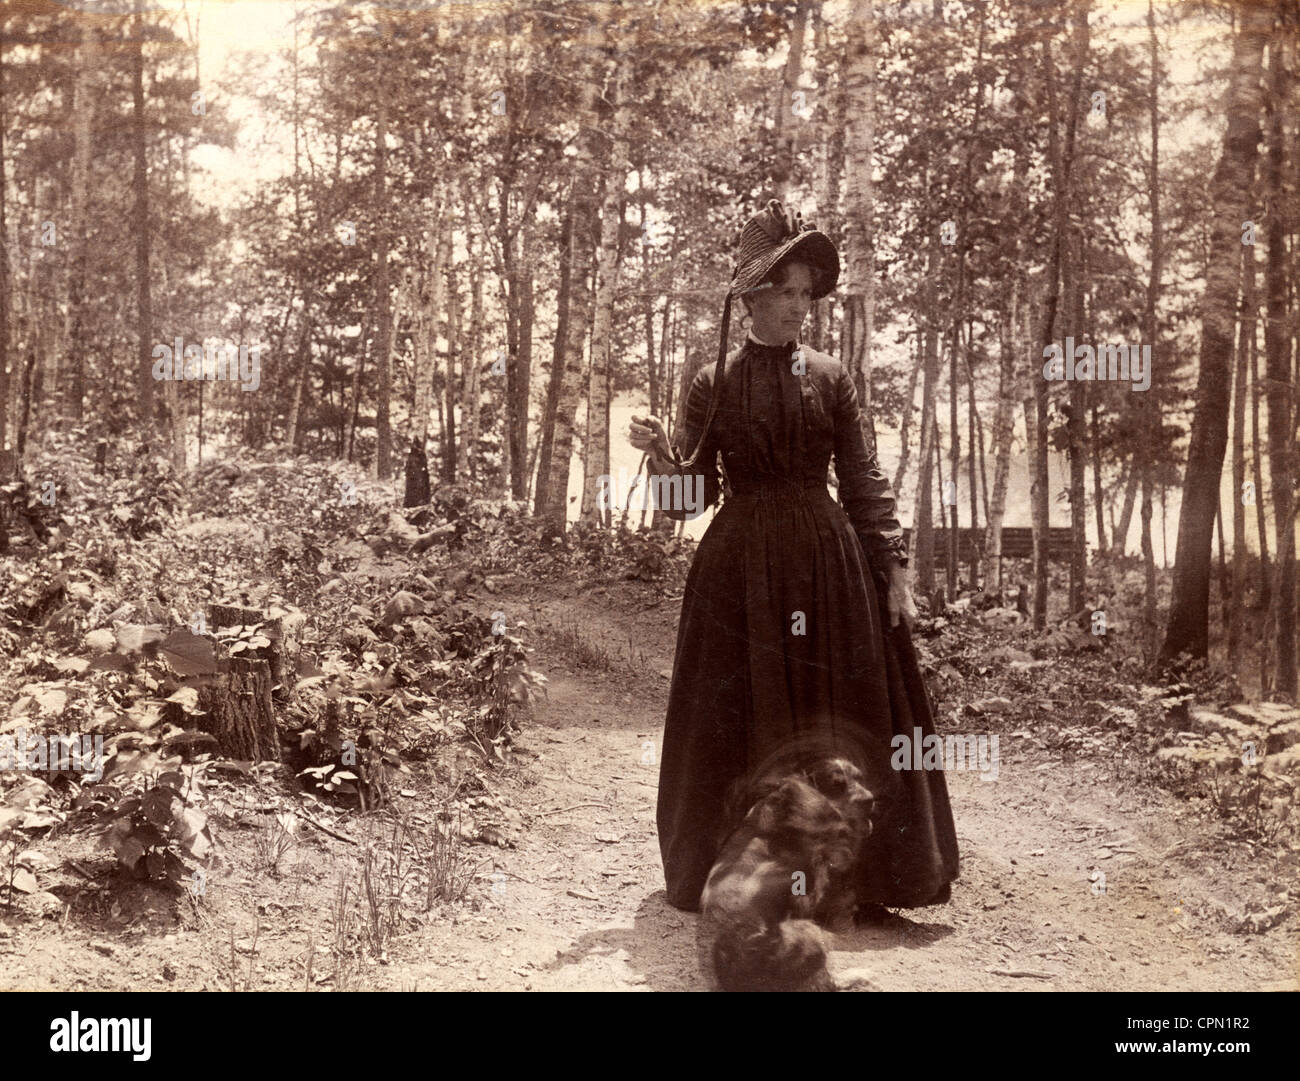
[[[862,760],[861,748],[844,738],[801,735],[733,786],[699,903],[710,987],[835,990],[822,928],[853,924],[874,802],[853,759]]]

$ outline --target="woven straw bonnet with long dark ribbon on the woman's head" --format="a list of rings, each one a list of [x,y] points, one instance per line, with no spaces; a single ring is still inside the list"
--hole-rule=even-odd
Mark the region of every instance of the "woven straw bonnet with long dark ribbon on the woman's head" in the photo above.
[[[768,199],[767,207],[754,214],[740,231],[740,246],[736,251],[736,268],[732,270],[731,286],[723,301],[722,338],[718,342],[718,370],[714,373],[714,392],[708,400],[708,414],[699,442],[690,457],[679,459],[685,472],[699,463],[701,452],[708,439],[714,414],[722,398],[723,369],[727,365],[727,337],[731,333],[731,305],[733,296],[741,296],[763,287],[772,269],[781,262],[806,262],[812,269],[812,299],[820,300],[835,288],[840,278],[840,255],[831,238],[819,233],[811,222],[805,222],[798,212],[789,214],[776,199]]]

